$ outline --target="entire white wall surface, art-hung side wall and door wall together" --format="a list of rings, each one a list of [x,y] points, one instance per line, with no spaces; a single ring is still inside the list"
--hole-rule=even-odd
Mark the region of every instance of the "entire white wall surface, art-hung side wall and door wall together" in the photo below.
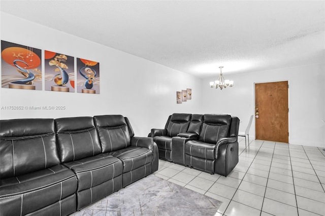
[[[324,64],[225,75],[235,86],[220,91],[209,87],[218,75],[201,80],[3,12],[0,36],[4,41],[98,61],[101,76],[97,95],[0,88],[1,106],[67,107],[66,111],[0,110],[0,119],[121,114],[129,118],[136,135],[146,136],[151,128],[163,128],[172,113],[231,113],[241,119],[244,130],[254,113],[254,83],[288,80],[289,142],[325,147]],[[186,88],[192,89],[192,100],[176,104],[176,91]],[[251,136],[254,131],[253,122]]]

